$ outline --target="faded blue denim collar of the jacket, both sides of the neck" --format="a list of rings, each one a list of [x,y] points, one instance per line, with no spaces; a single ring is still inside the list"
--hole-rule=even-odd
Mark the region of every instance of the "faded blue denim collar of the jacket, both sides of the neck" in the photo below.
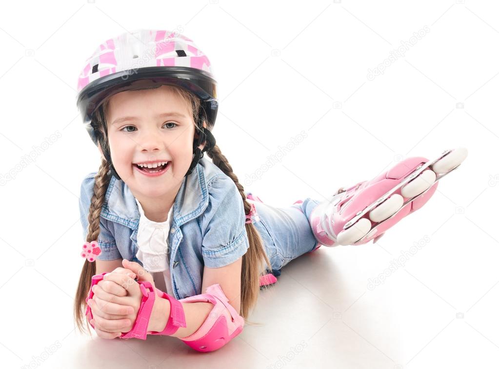
[[[207,159],[201,158],[195,170],[184,177],[173,205],[172,227],[179,227],[198,217],[208,206],[208,186],[205,167]],[[140,213],[130,188],[112,176],[106,191],[100,215],[131,229],[137,229]]]

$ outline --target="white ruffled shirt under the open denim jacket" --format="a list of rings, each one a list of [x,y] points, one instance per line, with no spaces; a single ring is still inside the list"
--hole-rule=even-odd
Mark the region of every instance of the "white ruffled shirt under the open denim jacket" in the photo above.
[[[173,206],[166,221],[158,223],[147,219],[140,202],[135,199],[139,208],[140,220],[137,231],[137,259],[142,262],[154,279],[156,288],[173,295],[168,259],[168,234],[172,224]]]

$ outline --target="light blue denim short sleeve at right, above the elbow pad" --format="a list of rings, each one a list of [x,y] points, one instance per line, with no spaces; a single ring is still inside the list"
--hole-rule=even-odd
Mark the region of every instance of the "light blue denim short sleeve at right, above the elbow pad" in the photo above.
[[[246,215],[243,198],[230,177],[213,179],[208,195],[208,207],[201,216],[201,250],[205,266],[220,268],[238,260],[250,247]]]

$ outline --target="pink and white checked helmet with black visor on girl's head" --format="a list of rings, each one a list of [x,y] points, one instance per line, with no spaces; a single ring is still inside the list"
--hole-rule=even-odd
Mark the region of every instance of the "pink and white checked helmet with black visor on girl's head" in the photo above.
[[[141,29],[101,43],[78,77],[77,105],[83,123],[97,145],[92,114],[109,96],[130,88],[173,84],[201,99],[208,126],[218,111],[217,82],[210,60],[178,31]]]

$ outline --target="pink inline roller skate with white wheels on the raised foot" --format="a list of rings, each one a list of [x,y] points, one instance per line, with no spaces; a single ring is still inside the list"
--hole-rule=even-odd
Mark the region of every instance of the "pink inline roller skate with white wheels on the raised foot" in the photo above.
[[[315,238],[328,247],[362,245],[373,238],[377,242],[389,228],[426,204],[438,181],[457,169],[467,155],[466,148],[457,148],[433,161],[410,157],[370,181],[340,188],[312,211]]]

